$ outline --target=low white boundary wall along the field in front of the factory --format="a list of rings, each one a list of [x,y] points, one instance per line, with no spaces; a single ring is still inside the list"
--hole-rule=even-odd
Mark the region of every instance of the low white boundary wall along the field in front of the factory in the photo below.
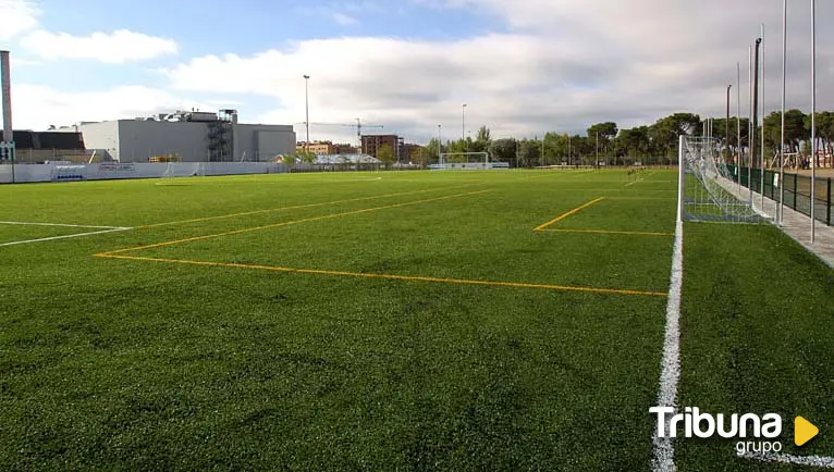
[[[51,182],[52,170],[61,165],[51,164],[17,164],[14,166],[14,182]],[[158,178],[165,171],[171,171],[174,177],[187,177],[195,173],[199,175],[244,175],[244,174],[279,174],[287,172],[284,164],[272,162],[159,162],[159,163],[100,163],[86,165],[88,181],[106,181],[113,178]],[[0,165],[0,184],[12,183],[12,166]]]

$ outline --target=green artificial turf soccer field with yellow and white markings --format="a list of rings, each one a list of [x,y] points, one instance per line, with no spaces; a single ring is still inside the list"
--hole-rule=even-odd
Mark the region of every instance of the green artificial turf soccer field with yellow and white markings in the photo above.
[[[2,470],[646,470],[677,171],[0,186]],[[686,224],[678,405],[834,456],[834,271]],[[682,471],[806,470],[675,443]]]

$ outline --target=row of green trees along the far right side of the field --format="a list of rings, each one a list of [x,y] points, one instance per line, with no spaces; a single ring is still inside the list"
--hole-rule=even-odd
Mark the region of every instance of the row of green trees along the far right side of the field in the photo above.
[[[817,113],[818,149],[822,153],[834,153],[834,112]],[[442,152],[489,152],[493,161],[510,162],[512,166],[533,167],[541,165],[631,165],[636,162],[648,164],[671,164],[677,161],[678,136],[702,136],[704,123],[694,113],[674,113],[651,125],[620,129],[614,122],[596,123],[585,135],[549,132],[533,139],[492,139],[490,129],[481,126],[476,134],[465,139],[445,140]],[[731,117],[711,119],[712,136],[723,149],[727,161],[734,156],[748,152],[750,133],[749,120]],[[738,127],[740,124],[740,140]],[[782,113],[773,112],[764,119],[764,156],[773,157],[781,141]],[[758,126],[757,148],[762,127]],[[727,134],[729,136],[727,136]],[[810,115],[800,110],[785,113],[785,152],[797,152],[810,157]],[[757,150],[757,154],[761,150]],[[410,160],[420,164],[437,162],[439,141],[432,138]],[[464,157],[452,160],[463,160]]]

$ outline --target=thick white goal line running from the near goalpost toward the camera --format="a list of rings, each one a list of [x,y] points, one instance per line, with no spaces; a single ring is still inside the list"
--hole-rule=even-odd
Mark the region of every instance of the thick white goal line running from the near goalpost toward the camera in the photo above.
[[[677,397],[677,381],[680,377],[680,291],[684,283],[684,223],[675,224],[675,248],[672,253],[672,275],[669,283],[669,301],[666,302],[666,335],[663,340],[663,359],[661,360],[660,389],[658,390],[659,407],[675,407]],[[666,417],[670,418],[669,415]],[[667,420],[669,421],[669,420]],[[669,431],[669,424],[666,424]],[[654,457],[652,470],[675,471],[675,444],[672,437],[658,437],[654,432]]]

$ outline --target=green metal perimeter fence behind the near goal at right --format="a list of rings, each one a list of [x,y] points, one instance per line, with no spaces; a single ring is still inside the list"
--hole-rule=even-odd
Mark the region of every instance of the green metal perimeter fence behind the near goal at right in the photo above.
[[[735,165],[727,165],[733,175],[734,182],[738,182],[738,169]],[[740,167],[741,186],[750,188],[747,179],[752,181],[752,190],[762,192],[761,170]],[[774,201],[780,201],[778,171],[764,171],[764,196]],[[785,182],[782,183],[785,189],[785,206],[792,208],[807,216],[811,215],[811,177],[797,174],[785,173]],[[832,202],[832,182],[831,177],[817,178],[815,191],[813,198],[814,219],[831,226],[834,221],[834,202]]]

